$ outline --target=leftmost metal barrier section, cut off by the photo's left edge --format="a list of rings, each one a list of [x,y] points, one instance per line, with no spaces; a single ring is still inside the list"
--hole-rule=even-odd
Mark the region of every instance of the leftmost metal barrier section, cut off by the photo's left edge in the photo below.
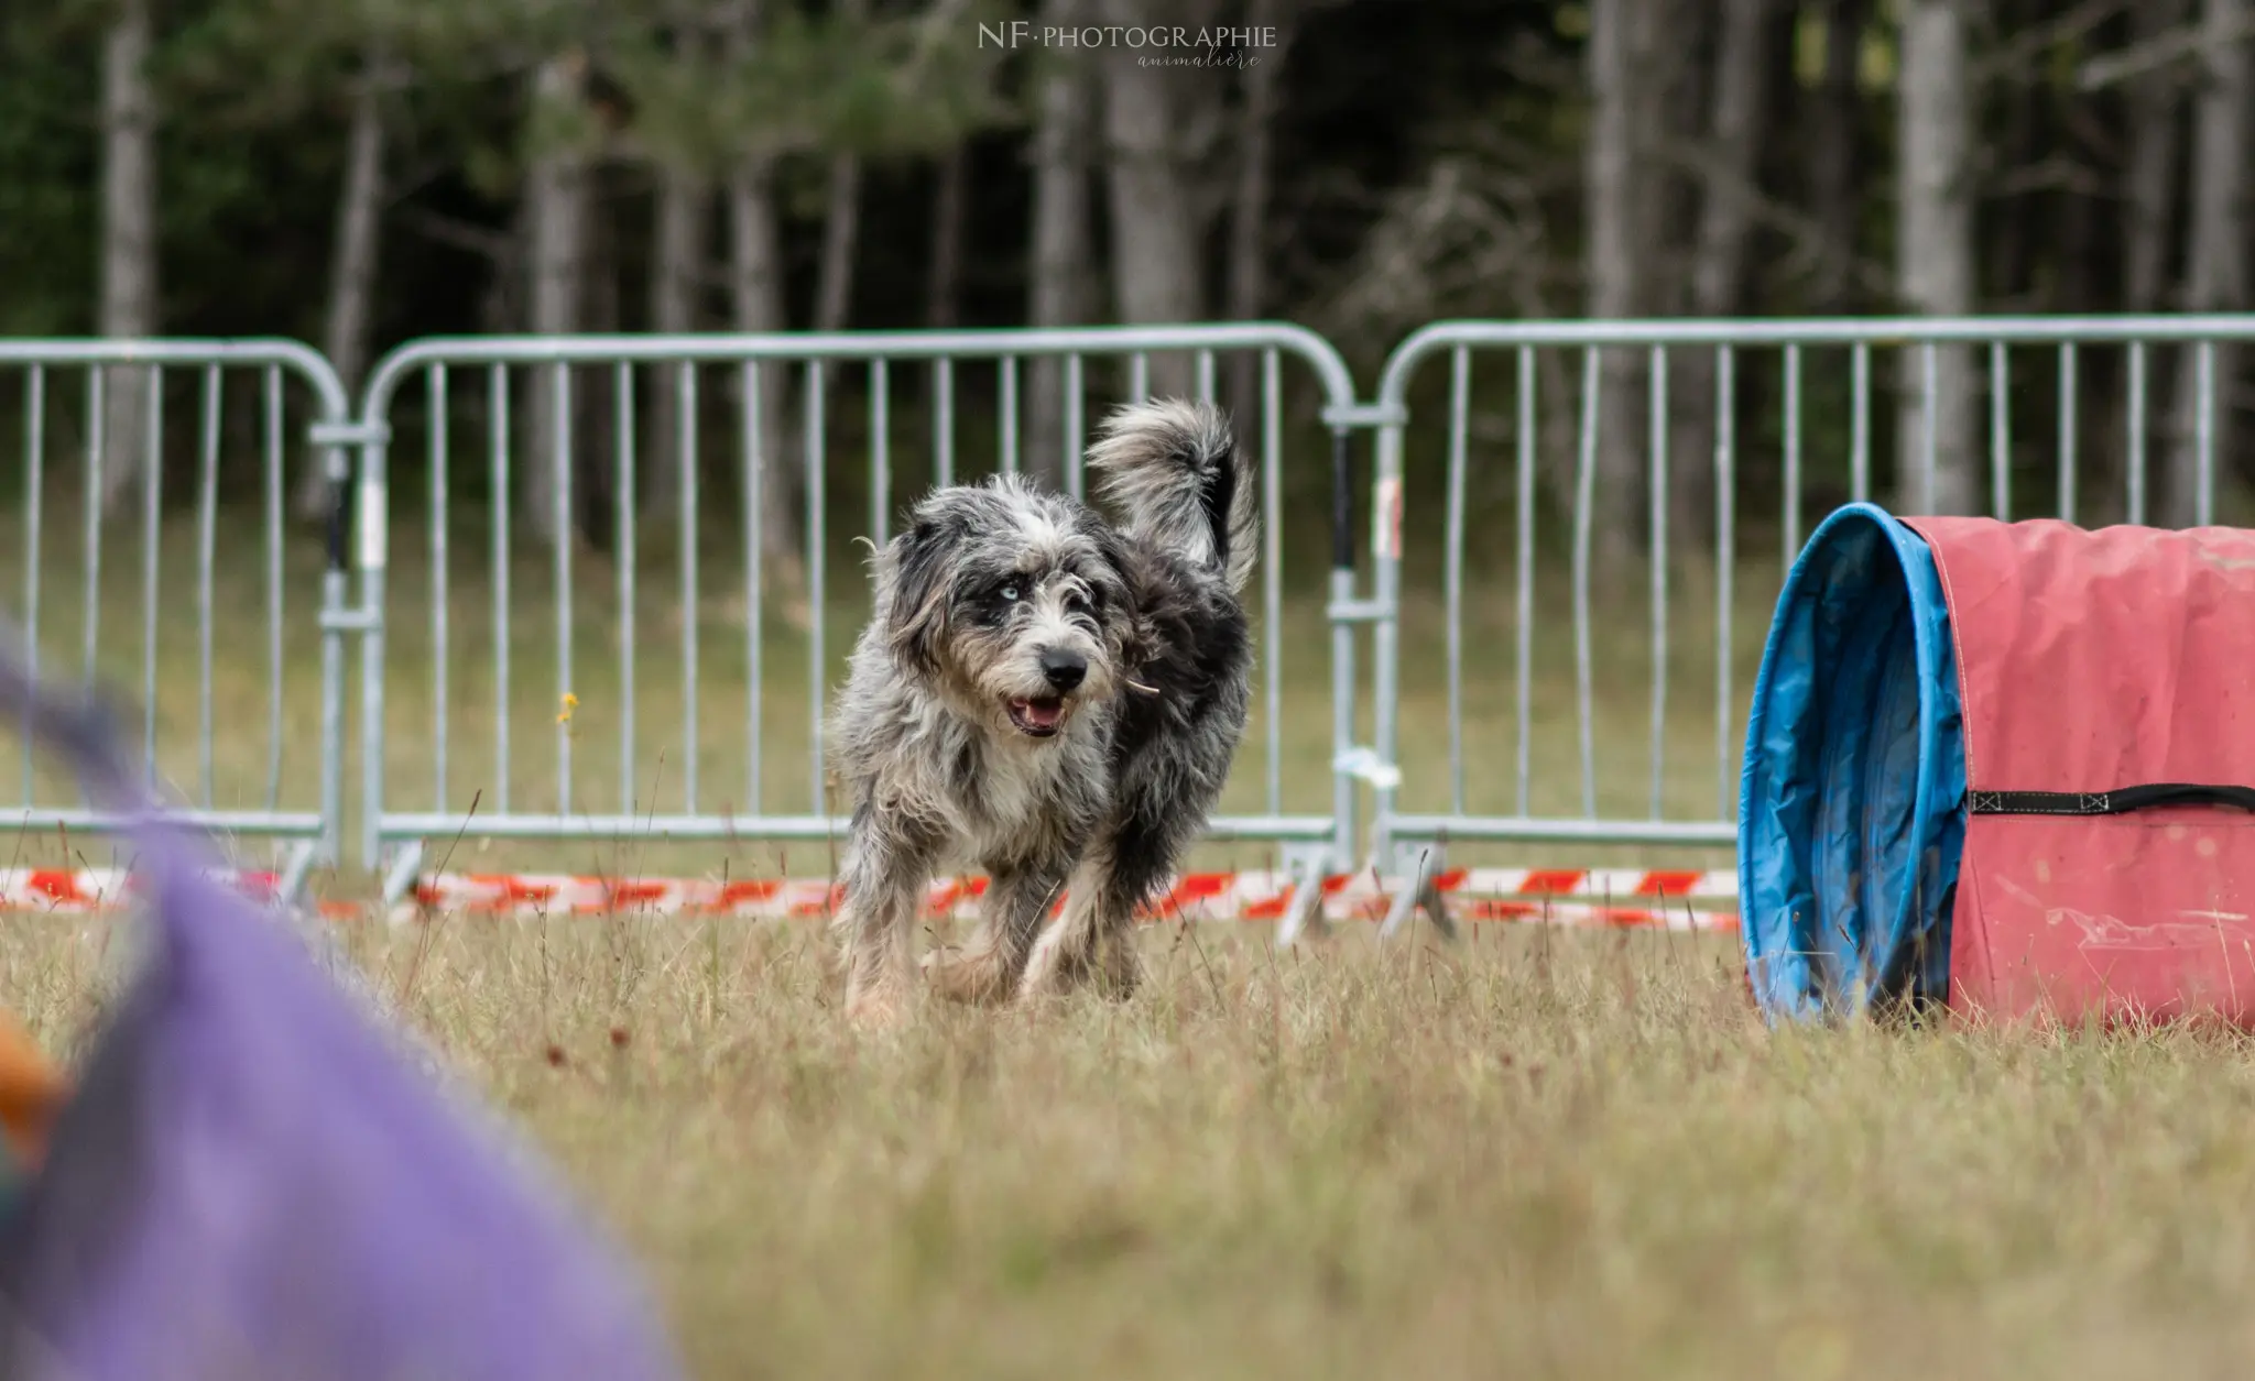
[[[291,556],[286,541],[286,471],[291,428],[302,419],[318,462],[338,482],[347,475],[343,442],[350,437],[350,403],[343,383],[320,354],[293,340],[0,340],[0,374],[20,378],[20,390],[0,394],[0,406],[20,406],[23,421],[23,509],[16,527],[23,595],[11,617],[23,629],[32,669],[43,656],[61,656],[61,631],[77,642],[77,671],[86,680],[138,683],[135,710],[151,786],[183,798],[183,818],[203,829],[277,840],[284,849],[282,890],[295,894],[313,863],[338,856],[343,635],[352,622],[338,617],[347,597],[341,523],[329,529],[318,608],[291,606],[291,570],[304,561]],[[192,570],[167,574],[167,397],[189,390],[194,561]],[[72,392],[77,406],[70,403]],[[81,462],[77,475],[59,473],[65,453]],[[221,588],[219,579],[219,498],[230,484],[255,484],[259,493],[257,532],[228,534],[230,545],[241,536],[248,538],[241,545],[259,552],[255,590],[241,590],[232,577]],[[50,588],[43,572],[52,509],[77,527],[74,631],[63,615],[70,593]],[[104,568],[104,529],[120,523],[138,527],[140,550],[129,552],[129,561],[140,570],[129,574],[129,593],[115,588],[115,559],[108,574]],[[117,604],[135,615],[138,658],[113,656],[104,642],[104,615],[115,624]],[[192,629],[178,629],[180,622],[192,622]],[[300,649],[309,638],[300,629],[318,642],[318,669],[307,667]],[[180,642],[192,651],[180,653]],[[302,768],[291,770],[286,732],[286,687],[309,678],[318,680],[320,716],[313,800],[289,788],[304,777]],[[178,732],[185,725],[176,721],[187,714],[194,725],[192,759],[160,748],[160,723]],[[246,719],[255,723],[257,716],[266,716],[268,728],[244,732]],[[38,770],[29,737],[20,804],[7,818],[25,834],[108,834],[122,825],[88,809],[65,777]]]

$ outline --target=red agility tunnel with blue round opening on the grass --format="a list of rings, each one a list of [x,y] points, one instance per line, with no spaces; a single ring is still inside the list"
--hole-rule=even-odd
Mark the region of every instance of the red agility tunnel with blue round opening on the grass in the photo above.
[[[2255,1025],[2255,534],[1849,505],[1786,577],[1739,798],[1772,1021]]]

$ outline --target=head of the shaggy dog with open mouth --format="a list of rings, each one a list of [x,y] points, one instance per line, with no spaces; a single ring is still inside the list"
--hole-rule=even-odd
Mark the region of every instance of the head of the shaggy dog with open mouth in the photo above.
[[[943,489],[886,547],[879,586],[902,667],[994,728],[1053,739],[1118,692],[1134,622],[1121,541],[1069,498]]]

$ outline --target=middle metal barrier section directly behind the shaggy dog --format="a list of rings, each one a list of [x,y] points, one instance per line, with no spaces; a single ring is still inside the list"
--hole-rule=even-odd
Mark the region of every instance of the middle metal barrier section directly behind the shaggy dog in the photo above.
[[[1319,899],[1319,881],[1326,872],[1346,867],[1353,852],[1351,782],[1339,775],[1333,784],[1333,800],[1326,809],[1285,813],[1283,800],[1283,723],[1281,723],[1281,665],[1283,665],[1283,565],[1281,565],[1281,480],[1285,444],[1285,390],[1283,360],[1292,358],[1312,374],[1315,392],[1321,401],[1306,421],[1321,421],[1333,437],[1335,502],[1346,502],[1346,437],[1362,421],[1355,412],[1353,381],[1339,354],[1319,336],[1288,324],[1213,324],[1213,327],[1166,327],[1166,329],[1044,329],[1044,331],[913,331],[913,333],[837,333],[837,336],[613,336],[613,338],[460,338],[424,340],[406,345],[386,356],[370,376],[361,410],[361,469],[359,469],[359,620],[363,629],[363,807],[361,807],[361,854],[370,867],[383,867],[386,894],[401,894],[415,876],[422,845],[444,836],[483,838],[546,838],[546,840],[607,840],[607,838],[672,838],[672,840],[830,840],[837,838],[846,818],[830,811],[823,784],[823,714],[828,707],[828,683],[832,671],[832,644],[825,629],[825,606],[830,590],[825,543],[828,532],[828,466],[825,455],[834,437],[850,430],[850,419],[841,419],[830,408],[832,390],[859,383],[866,419],[859,442],[868,451],[866,500],[868,529],[873,543],[886,538],[895,502],[909,493],[895,491],[895,478],[904,469],[895,457],[893,394],[900,374],[895,365],[922,365],[925,410],[929,421],[929,464],[925,475],[945,484],[970,478],[972,466],[958,464],[958,401],[961,374],[972,365],[994,372],[994,455],[1001,471],[1017,471],[1024,433],[1024,397],[1019,374],[1028,360],[1046,360],[1042,372],[1053,374],[1062,403],[1058,417],[1060,435],[1055,455],[1062,482],[1069,491],[1080,491],[1080,451],[1085,424],[1091,419],[1089,401],[1094,365],[1112,363],[1123,376],[1116,397],[1146,397],[1152,378],[1152,360],[1161,365],[1188,365],[1182,374],[1195,374],[1195,392],[1211,397],[1215,390],[1215,363],[1220,356],[1249,354],[1258,360],[1261,426],[1254,439],[1252,428],[1240,419],[1240,433],[1258,446],[1263,478],[1265,552],[1263,583],[1258,593],[1261,615],[1261,687],[1256,703],[1263,707],[1265,743],[1265,809],[1258,813],[1215,816],[1213,838],[1276,840],[1285,849],[1301,888],[1288,910],[1303,915]],[[516,460],[523,451],[512,426],[514,374],[525,369],[534,385],[534,448],[537,453]],[[474,372],[469,387],[458,387],[458,378]],[[708,374],[722,372],[722,394],[733,390],[728,403],[733,417],[726,430],[733,435],[733,473],[737,489],[737,514],[733,516],[731,545],[742,554],[737,572],[742,586],[735,620],[740,635],[733,638],[731,660],[742,669],[742,703],[726,714],[726,741],[742,755],[740,795],[724,811],[713,811],[717,793],[706,788],[701,764],[708,757],[699,719],[706,710],[699,692],[699,667],[708,656],[699,631],[699,613],[706,599],[706,577],[699,541],[701,496],[699,464],[704,453],[704,419],[708,408],[699,399],[713,399]],[[832,383],[832,374],[846,372],[843,383]],[[483,374],[483,378],[478,378]],[[386,784],[388,748],[397,741],[390,732],[386,701],[404,692],[399,671],[388,656],[388,642],[399,635],[399,624],[388,615],[390,547],[386,511],[395,482],[390,448],[399,435],[401,394],[410,381],[422,381],[424,390],[424,478],[428,482],[431,529],[428,554],[419,579],[428,581],[428,721],[413,719],[419,741],[428,743],[428,809],[408,809]],[[607,455],[589,471],[582,460],[591,451],[575,439],[584,430],[580,401],[591,392],[586,378],[604,397],[607,435],[598,437],[593,451]],[[796,417],[778,417],[782,387],[796,383]],[[636,683],[640,662],[638,606],[643,604],[643,559],[638,554],[638,453],[643,448],[638,399],[649,394],[663,403],[672,419],[670,442],[674,457],[672,505],[679,518],[676,541],[679,574],[670,583],[681,608],[679,644],[672,653],[670,671],[679,674],[679,687],[667,696],[679,714],[679,766],[672,782],[658,791],[638,782],[647,766],[638,741]],[[552,529],[571,529],[577,520],[573,484],[580,475],[604,484],[613,505],[613,523],[604,523],[613,536],[609,554],[616,568],[616,593],[609,599],[616,613],[600,631],[616,640],[616,705],[607,712],[616,716],[618,773],[611,782],[616,804],[586,809],[575,800],[575,743],[580,725],[593,719],[584,712],[580,692],[589,689],[586,671],[577,662],[582,608],[575,608],[573,541],[555,541],[543,552],[552,563],[543,581],[552,590],[552,640],[555,696],[559,707],[555,719],[555,770],[546,786],[552,788],[552,804],[528,809],[512,795],[512,741],[510,721],[525,714],[521,696],[512,689],[516,642],[523,629],[512,629],[512,565],[516,563],[510,532],[510,502],[489,502],[483,516],[480,543],[487,554],[494,590],[489,613],[489,667],[492,676],[492,759],[480,764],[485,782],[492,786],[483,798],[465,800],[456,782],[449,779],[456,696],[451,656],[453,611],[451,595],[451,532],[456,509],[451,491],[456,471],[456,421],[460,412],[483,410],[483,471],[489,493],[505,496],[514,475],[523,482],[523,471],[546,466],[552,502]],[[404,417],[404,415],[401,415]],[[474,419],[476,421],[476,419]],[[782,428],[798,424],[798,455],[778,455]],[[805,687],[805,809],[769,809],[769,782],[762,773],[773,766],[767,755],[769,701],[796,689],[785,687],[776,676],[769,649],[769,629],[762,624],[764,604],[773,590],[762,588],[764,545],[773,534],[776,514],[767,505],[778,502],[778,484],[785,475],[776,466],[796,471],[803,489],[796,514],[798,545],[805,552],[803,583],[810,615],[796,647],[782,653],[803,660],[801,683]],[[404,473],[397,475],[404,480]],[[1339,559],[1335,543],[1335,565]],[[1353,552],[1344,552],[1353,563]],[[855,581],[861,583],[859,579]],[[1333,599],[1353,595],[1353,572],[1330,572]],[[1346,624],[1333,631],[1330,658],[1333,692],[1333,757],[1342,757],[1353,728],[1353,647]],[[647,671],[643,674],[647,676]],[[422,694],[422,692],[417,692]],[[1254,748],[1254,743],[1247,743]],[[796,766],[792,768],[796,770]],[[767,773],[773,775],[773,773]],[[663,804],[658,804],[663,795]],[[392,852],[392,847],[397,849]]]

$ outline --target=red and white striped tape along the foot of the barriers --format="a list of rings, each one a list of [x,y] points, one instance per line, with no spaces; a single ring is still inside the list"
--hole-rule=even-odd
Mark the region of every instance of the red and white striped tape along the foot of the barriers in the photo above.
[[[232,885],[268,897],[271,872],[226,874]],[[1549,921],[1565,926],[1664,926],[1673,930],[1730,930],[1736,915],[1698,910],[1694,901],[1734,901],[1739,879],[1730,872],[1639,872],[1639,870],[1524,870],[1470,867],[1434,879],[1452,910],[1470,921]],[[1371,872],[1324,879],[1324,917],[1335,921],[1378,919],[1398,879]],[[1292,879],[1281,872],[1193,872],[1148,908],[1155,921],[1245,919],[1274,921],[1283,915]],[[979,915],[983,876],[940,879],[927,897],[938,917]],[[124,870],[0,870],[0,908],[43,912],[95,912],[124,903],[131,894]],[[467,915],[715,915],[746,919],[823,917],[837,906],[828,879],[602,879],[575,874],[433,874],[415,885],[417,910]],[[359,917],[352,901],[322,901],[325,915]]]

